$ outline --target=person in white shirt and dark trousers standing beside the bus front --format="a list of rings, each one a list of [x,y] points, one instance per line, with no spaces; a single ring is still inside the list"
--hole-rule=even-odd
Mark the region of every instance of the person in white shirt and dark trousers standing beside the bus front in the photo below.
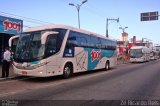
[[[9,76],[9,67],[11,62],[11,52],[9,48],[5,48],[5,52],[3,53],[3,63],[2,63],[2,78]]]

